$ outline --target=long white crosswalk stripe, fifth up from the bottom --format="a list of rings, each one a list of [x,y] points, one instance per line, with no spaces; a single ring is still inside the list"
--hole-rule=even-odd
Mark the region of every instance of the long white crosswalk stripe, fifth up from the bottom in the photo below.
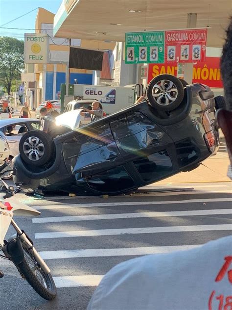
[[[179,195],[179,193],[178,193]],[[148,205],[170,205],[170,204],[189,204],[189,203],[209,203],[209,202],[231,202],[232,198],[206,198],[206,199],[188,199],[171,201],[135,201],[135,202],[116,202],[116,203],[95,203],[95,204],[72,204],[72,205],[46,205],[34,206],[37,210],[67,209],[83,207],[118,207],[118,206],[148,206]]]

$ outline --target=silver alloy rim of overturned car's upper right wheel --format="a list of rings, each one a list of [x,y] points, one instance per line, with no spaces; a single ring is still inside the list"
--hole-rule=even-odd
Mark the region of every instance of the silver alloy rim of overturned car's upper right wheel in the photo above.
[[[168,79],[162,79],[153,86],[152,96],[159,105],[170,105],[178,96],[176,84]]]

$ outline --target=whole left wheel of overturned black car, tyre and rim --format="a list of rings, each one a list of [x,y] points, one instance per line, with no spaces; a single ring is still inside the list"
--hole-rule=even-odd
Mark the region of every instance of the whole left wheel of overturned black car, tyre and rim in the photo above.
[[[53,142],[46,132],[32,130],[26,132],[21,138],[19,151],[25,163],[43,166],[51,159]]]

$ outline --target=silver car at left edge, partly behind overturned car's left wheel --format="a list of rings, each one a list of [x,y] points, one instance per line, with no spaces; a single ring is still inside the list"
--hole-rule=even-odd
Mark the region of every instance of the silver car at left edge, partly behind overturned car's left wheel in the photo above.
[[[10,146],[11,158],[19,154],[19,142],[25,132],[40,129],[40,121],[37,119],[11,118],[0,120],[0,131],[4,133]],[[4,177],[10,179],[11,174]]]

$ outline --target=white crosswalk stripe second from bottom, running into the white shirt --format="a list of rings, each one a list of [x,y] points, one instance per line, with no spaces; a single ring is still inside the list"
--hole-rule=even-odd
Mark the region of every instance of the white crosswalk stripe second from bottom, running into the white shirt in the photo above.
[[[154,246],[154,247],[138,247],[138,248],[44,251],[40,252],[40,255],[43,259],[136,256],[136,255],[170,253],[173,251],[185,251],[199,246],[200,245],[194,244],[194,245]]]

